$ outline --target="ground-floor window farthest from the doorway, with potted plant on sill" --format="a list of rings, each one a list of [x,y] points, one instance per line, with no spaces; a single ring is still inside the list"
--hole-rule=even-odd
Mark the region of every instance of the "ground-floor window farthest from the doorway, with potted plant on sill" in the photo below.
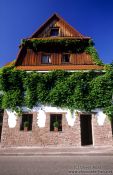
[[[32,130],[33,114],[23,114],[21,118],[20,130]]]

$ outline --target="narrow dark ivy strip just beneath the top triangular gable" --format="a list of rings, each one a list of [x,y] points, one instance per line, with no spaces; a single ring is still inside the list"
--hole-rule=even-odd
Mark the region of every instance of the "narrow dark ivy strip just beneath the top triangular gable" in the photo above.
[[[79,39],[68,39],[68,38],[42,38],[42,39],[23,39],[20,47],[26,47],[37,51],[71,51],[71,52],[83,52],[84,48],[89,46],[88,40],[79,40]]]

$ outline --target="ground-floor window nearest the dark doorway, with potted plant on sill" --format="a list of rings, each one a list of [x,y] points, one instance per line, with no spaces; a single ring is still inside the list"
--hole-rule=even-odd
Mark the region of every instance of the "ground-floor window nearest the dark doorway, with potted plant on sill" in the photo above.
[[[58,131],[62,131],[62,114],[50,115],[50,131],[54,131],[55,124],[57,123]]]

